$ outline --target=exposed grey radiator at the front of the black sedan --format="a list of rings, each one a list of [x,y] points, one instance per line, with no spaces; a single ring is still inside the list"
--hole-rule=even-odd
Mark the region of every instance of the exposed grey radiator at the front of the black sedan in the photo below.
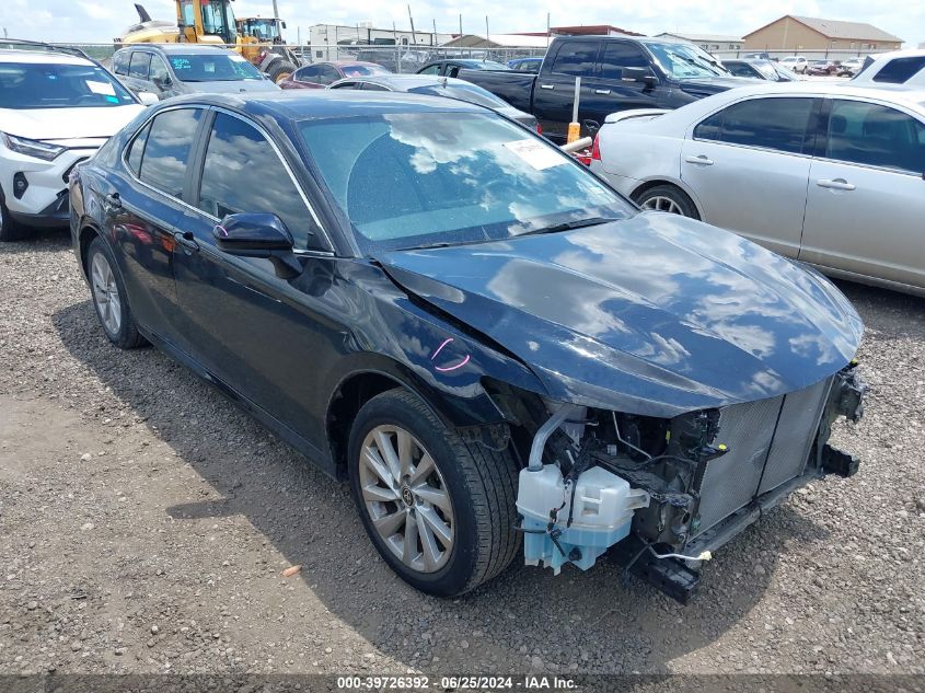
[[[707,463],[696,534],[802,474],[831,386],[828,378],[786,395],[720,411],[716,442],[726,443],[729,452]]]

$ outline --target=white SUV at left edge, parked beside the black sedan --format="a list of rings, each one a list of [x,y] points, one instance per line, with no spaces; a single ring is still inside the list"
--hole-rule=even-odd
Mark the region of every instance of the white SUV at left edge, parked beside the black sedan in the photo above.
[[[86,57],[28,42],[0,49],[0,241],[67,226],[68,175],[144,105]]]

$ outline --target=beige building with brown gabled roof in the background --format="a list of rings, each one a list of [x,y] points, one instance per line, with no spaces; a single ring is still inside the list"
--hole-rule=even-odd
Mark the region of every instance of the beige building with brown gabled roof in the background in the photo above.
[[[745,50],[894,50],[902,38],[865,24],[785,14],[743,36]]]

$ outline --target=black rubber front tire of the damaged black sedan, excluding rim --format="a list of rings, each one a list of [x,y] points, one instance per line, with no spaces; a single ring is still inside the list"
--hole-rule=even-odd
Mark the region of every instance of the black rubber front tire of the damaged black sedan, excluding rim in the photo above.
[[[437,571],[406,566],[372,524],[360,486],[360,454],[377,426],[398,426],[411,432],[433,458],[446,482],[454,516],[453,547]],[[414,394],[397,389],[367,402],[357,414],[348,444],[350,490],[367,534],[389,566],[412,587],[437,597],[467,592],[500,574],[520,545],[517,518],[517,465],[499,452],[464,442]]]

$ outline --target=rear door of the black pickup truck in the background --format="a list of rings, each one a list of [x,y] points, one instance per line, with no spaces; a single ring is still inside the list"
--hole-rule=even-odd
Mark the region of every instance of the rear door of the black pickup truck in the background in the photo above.
[[[601,43],[600,38],[560,41],[554,46],[555,55],[543,61],[533,88],[533,115],[540,120],[546,137],[565,140],[568,135],[575,103],[575,78],[581,77],[582,82],[587,82],[597,77]],[[581,99],[590,94],[591,89],[582,83]]]

